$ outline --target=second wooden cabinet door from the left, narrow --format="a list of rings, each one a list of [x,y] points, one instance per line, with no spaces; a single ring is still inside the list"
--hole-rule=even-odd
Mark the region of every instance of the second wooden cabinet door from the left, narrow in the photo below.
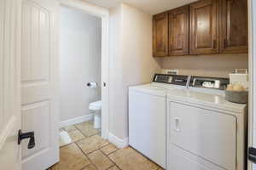
[[[169,54],[189,54],[189,6],[169,13]]]

